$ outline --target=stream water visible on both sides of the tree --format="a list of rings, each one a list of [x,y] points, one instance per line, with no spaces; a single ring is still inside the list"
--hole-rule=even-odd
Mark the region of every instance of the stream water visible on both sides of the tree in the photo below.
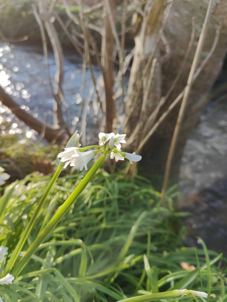
[[[55,72],[53,54],[49,54],[51,78]],[[89,70],[86,71],[84,96],[81,96],[82,60],[73,53],[65,53],[65,100],[70,110],[65,115],[70,126],[78,122],[82,99],[87,98],[92,86]],[[95,77],[99,71],[94,68]],[[15,97],[21,108],[52,123],[53,98],[42,48],[25,45],[0,45],[0,84]],[[202,109],[201,123],[191,132],[182,158],[179,187],[182,192],[181,208],[194,216],[185,218],[188,228],[187,246],[200,244],[227,254],[227,101],[217,93]],[[221,100],[221,101],[220,101]],[[94,107],[87,104],[87,133],[94,127]],[[91,110],[90,110],[91,109]],[[67,115],[67,112],[69,114]],[[36,139],[36,132],[17,120],[5,106],[0,106],[0,134],[5,135],[4,123],[13,123],[11,133],[26,131],[28,138]],[[80,127],[80,124],[79,124]],[[89,137],[88,137],[89,140]],[[88,141],[89,142],[89,141]]]

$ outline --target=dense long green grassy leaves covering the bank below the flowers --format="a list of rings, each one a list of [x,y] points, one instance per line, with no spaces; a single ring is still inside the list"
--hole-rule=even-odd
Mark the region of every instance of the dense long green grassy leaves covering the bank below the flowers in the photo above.
[[[23,251],[83,176],[71,170],[56,181]],[[4,217],[0,245],[9,247],[9,253],[49,182],[47,176],[30,174],[6,188],[0,200],[0,216]],[[174,196],[175,191],[169,191],[168,197]],[[220,272],[224,259],[207,251],[204,243],[204,251],[197,250],[198,257],[194,248],[184,248],[182,230],[176,232],[180,216],[171,203],[169,208],[161,207],[160,193],[146,179],[132,181],[120,173],[113,177],[99,170],[13,286],[0,285],[0,296],[4,301],[16,301],[19,294],[23,302],[107,302],[187,287],[210,291],[224,300],[225,270]],[[188,263],[189,270],[182,263]]]

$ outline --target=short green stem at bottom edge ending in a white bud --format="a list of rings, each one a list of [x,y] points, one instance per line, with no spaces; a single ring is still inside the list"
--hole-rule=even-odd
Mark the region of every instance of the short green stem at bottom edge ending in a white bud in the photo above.
[[[168,298],[175,298],[179,295],[181,295],[180,290],[175,289],[166,292],[151,293],[142,296],[127,298],[127,299],[120,300],[118,302],[149,302],[149,301],[156,301],[156,300],[162,300]]]

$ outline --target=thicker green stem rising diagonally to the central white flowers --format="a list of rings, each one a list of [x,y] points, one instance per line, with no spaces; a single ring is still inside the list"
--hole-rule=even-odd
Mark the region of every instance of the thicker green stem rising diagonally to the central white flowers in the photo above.
[[[66,212],[70,209],[71,205],[76,201],[78,196],[85,189],[87,184],[94,177],[97,170],[100,168],[102,163],[105,161],[106,156],[102,155],[90,171],[85,175],[79,185],[74,189],[71,195],[66,199],[60,209],[53,215],[50,221],[46,224],[45,228],[39,233],[35,241],[29,247],[25,255],[21,258],[20,262],[16,265],[15,269],[12,272],[12,275],[16,278],[25,265],[28,263],[31,256],[36,252],[39,245],[44,241],[44,239],[50,234],[50,232],[55,228],[56,224],[62,219]]]

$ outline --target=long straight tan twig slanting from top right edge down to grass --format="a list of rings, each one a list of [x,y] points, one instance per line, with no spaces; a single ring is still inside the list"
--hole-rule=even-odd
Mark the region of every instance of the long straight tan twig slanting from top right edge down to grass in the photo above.
[[[178,115],[178,119],[177,119],[177,123],[176,123],[176,127],[174,130],[174,135],[172,138],[172,142],[171,142],[171,146],[169,148],[169,152],[168,152],[168,157],[167,157],[167,162],[166,162],[166,166],[165,166],[165,173],[164,173],[164,180],[163,180],[163,185],[162,185],[162,190],[161,190],[161,199],[162,199],[162,205],[164,206],[164,201],[165,201],[165,192],[166,192],[166,187],[167,187],[167,181],[168,181],[168,177],[169,177],[169,172],[171,169],[171,164],[173,161],[173,156],[174,156],[174,152],[175,152],[175,148],[176,148],[176,144],[177,144],[177,139],[179,136],[179,132],[180,132],[180,128],[182,125],[182,121],[184,118],[184,113],[185,113],[185,108],[186,108],[186,104],[188,101],[188,97],[189,97],[189,93],[193,84],[193,75],[196,71],[196,66],[198,64],[198,60],[200,57],[200,53],[202,51],[202,47],[204,44],[204,40],[205,40],[205,36],[206,36],[206,31],[207,31],[207,26],[210,20],[210,15],[212,12],[212,7],[213,7],[213,3],[214,0],[210,0],[209,1],[209,5],[208,5],[208,9],[206,12],[206,17],[203,23],[203,27],[202,27],[202,31],[199,37],[199,42],[196,48],[196,53],[192,62],[192,67],[190,70],[190,74],[189,74],[189,78],[188,78],[188,83],[187,86],[185,88],[185,93],[183,96],[183,100],[182,100],[182,104],[181,104],[181,108],[179,111],[179,115]]]

